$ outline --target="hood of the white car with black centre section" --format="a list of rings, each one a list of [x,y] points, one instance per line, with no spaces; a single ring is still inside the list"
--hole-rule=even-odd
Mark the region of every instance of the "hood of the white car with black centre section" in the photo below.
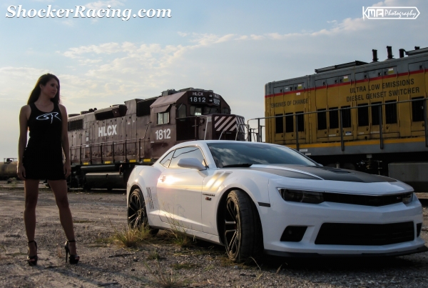
[[[282,177],[345,182],[397,182],[397,180],[354,170],[322,166],[302,166],[292,164],[254,164],[246,169],[275,174]]]

